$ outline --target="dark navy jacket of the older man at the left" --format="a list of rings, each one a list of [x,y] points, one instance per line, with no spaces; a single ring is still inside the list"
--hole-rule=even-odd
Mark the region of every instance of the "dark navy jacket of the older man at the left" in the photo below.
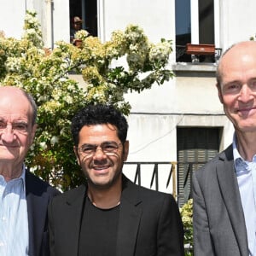
[[[25,180],[29,232],[28,254],[29,256],[48,256],[49,232],[47,207],[52,197],[60,194],[60,192],[27,170]]]

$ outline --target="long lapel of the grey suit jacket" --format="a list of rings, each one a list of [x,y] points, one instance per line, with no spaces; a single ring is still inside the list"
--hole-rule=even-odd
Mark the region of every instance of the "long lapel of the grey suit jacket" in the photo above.
[[[241,255],[247,255],[247,230],[241,206],[239,187],[236,180],[234,160],[233,156],[230,157],[230,154],[232,154],[230,150],[232,149],[228,148],[225,151],[226,155],[224,158],[218,161],[217,177]]]

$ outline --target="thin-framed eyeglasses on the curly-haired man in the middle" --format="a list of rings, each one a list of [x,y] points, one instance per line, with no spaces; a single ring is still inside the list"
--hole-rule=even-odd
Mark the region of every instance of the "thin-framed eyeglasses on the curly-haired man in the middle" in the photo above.
[[[119,150],[122,143],[116,142],[103,142],[100,145],[95,144],[84,144],[78,148],[79,154],[83,156],[90,157],[96,154],[96,150],[101,149],[104,154],[113,155]]]

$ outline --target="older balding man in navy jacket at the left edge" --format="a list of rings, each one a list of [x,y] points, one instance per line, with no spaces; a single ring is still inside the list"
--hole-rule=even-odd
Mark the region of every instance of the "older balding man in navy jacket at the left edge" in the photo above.
[[[0,87],[0,255],[49,255],[47,207],[59,192],[24,165],[36,117],[32,96]]]

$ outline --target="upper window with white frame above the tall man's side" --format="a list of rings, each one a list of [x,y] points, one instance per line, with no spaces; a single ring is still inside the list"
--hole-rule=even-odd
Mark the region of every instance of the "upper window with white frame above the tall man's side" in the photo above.
[[[214,0],[176,0],[176,61],[191,62],[186,44],[215,44],[214,24]],[[214,62],[214,55],[201,55],[200,61]]]

